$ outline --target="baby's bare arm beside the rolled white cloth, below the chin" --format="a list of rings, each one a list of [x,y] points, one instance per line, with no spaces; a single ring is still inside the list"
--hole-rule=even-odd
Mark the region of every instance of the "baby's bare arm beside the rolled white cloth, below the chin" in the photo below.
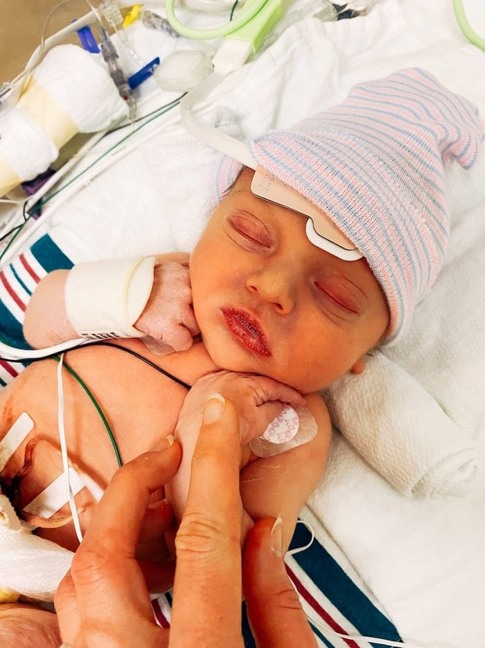
[[[243,506],[253,520],[283,518],[283,547],[290,544],[299,512],[324,472],[330,444],[331,425],[324,401],[318,393],[305,398],[317,422],[317,436],[273,457],[254,459],[240,475]]]

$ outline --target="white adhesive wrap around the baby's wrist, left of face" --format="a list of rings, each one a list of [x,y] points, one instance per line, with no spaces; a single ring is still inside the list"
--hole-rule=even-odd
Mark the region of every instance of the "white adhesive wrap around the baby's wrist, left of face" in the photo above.
[[[145,336],[134,323],[150,298],[155,261],[128,257],[73,266],[64,300],[74,330],[89,340]]]

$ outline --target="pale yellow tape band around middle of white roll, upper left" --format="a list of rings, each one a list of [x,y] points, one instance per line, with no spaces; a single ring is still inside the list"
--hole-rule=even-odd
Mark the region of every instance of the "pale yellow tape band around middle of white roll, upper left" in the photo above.
[[[35,78],[30,77],[17,106],[61,148],[79,132],[78,125]]]

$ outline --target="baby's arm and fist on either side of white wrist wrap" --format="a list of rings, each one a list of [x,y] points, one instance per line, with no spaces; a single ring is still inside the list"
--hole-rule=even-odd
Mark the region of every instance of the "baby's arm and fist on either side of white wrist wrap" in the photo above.
[[[198,328],[191,308],[188,255],[174,253],[155,257],[151,291],[139,317],[130,325],[144,339],[164,342],[167,350],[184,350],[192,344]],[[96,263],[91,268],[96,268]],[[69,319],[66,285],[71,271],[58,270],[46,275],[33,293],[24,321],[24,336],[35,348],[76,339],[80,333]],[[91,276],[91,281],[93,277]],[[102,271],[99,283],[103,285]],[[97,280],[96,280],[97,283]],[[87,302],[89,304],[89,294]],[[72,296],[71,296],[72,298]],[[73,296],[76,300],[76,295]],[[104,300],[103,305],[104,305]],[[109,303],[109,300],[105,300]],[[109,310],[109,307],[107,307]],[[84,309],[83,309],[84,314]],[[111,313],[108,312],[108,316]],[[128,336],[128,335],[127,335]]]

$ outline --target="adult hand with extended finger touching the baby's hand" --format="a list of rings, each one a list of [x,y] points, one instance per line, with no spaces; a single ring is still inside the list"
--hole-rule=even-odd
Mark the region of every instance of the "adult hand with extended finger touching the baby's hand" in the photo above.
[[[64,642],[75,648],[243,646],[238,420],[229,400],[208,400],[175,541],[170,631],[155,624],[145,566],[135,552],[147,532],[150,497],[177,468],[177,443],[128,463],[109,484],[56,592]],[[169,515],[161,511],[159,527],[168,527]],[[274,520],[258,523],[245,552],[244,592],[256,642],[283,648],[298,637],[299,644],[315,646],[285,573],[279,529]]]

